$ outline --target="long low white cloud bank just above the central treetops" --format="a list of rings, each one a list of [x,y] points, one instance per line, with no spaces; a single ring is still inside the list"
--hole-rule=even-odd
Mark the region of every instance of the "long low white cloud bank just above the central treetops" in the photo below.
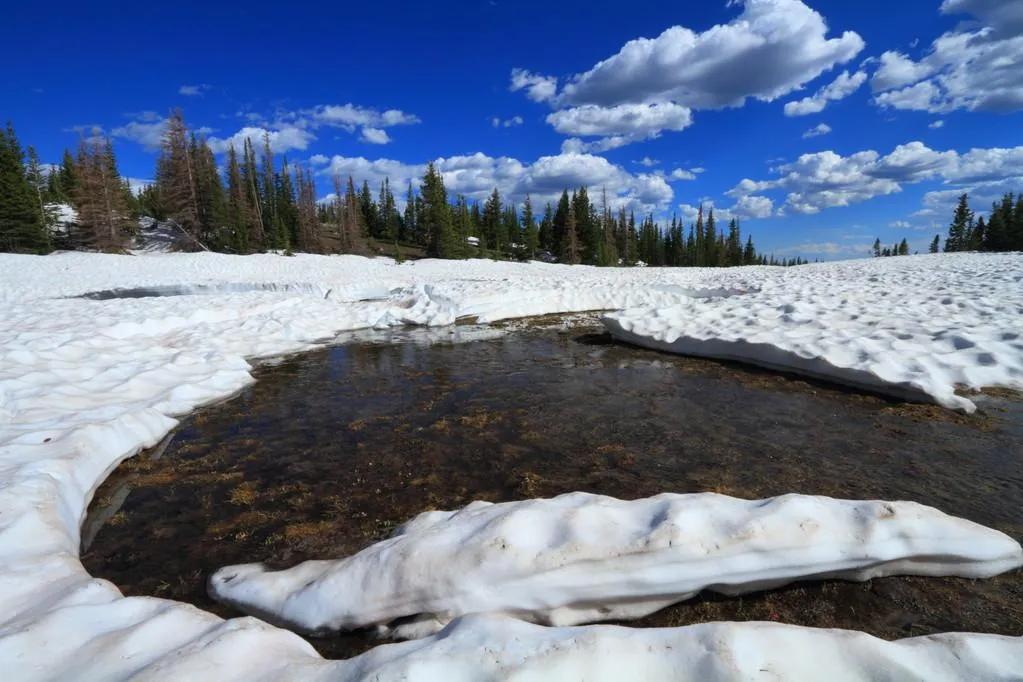
[[[462,194],[485,200],[497,187],[506,200],[521,203],[529,194],[534,206],[557,202],[564,189],[586,187],[590,192],[607,188],[612,209],[625,208],[639,213],[661,211],[674,196],[665,179],[655,173],[629,173],[603,156],[561,153],[541,156],[532,164],[508,156],[475,154],[435,160],[449,195]],[[426,164],[405,164],[390,158],[336,155],[318,173],[324,176],[351,175],[356,182],[366,180],[377,186],[390,178],[393,187],[409,182],[418,187]],[[396,192],[397,194],[398,192]]]

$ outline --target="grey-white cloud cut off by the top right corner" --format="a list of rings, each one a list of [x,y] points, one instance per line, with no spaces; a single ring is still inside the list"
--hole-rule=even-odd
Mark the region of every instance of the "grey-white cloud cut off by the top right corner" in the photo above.
[[[882,54],[871,80],[875,102],[932,113],[1023,109],[1023,3],[945,0],[940,9],[974,19],[938,37],[919,60]]]

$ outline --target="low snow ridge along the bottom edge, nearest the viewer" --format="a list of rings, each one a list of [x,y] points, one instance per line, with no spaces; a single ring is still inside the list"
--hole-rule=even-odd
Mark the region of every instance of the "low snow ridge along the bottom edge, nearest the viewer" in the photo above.
[[[543,628],[466,617],[425,640],[379,646],[346,662],[342,679],[1018,680],[1023,641],[942,634],[887,642],[847,630],[776,623],[684,628]]]

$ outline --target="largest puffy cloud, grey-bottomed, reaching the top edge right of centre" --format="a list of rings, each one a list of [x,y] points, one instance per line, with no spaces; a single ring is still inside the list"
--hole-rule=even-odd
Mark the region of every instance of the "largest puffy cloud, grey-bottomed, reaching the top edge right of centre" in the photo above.
[[[692,108],[740,106],[786,95],[863,48],[853,32],[827,38],[825,18],[799,0],[746,0],[728,24],[696,33],[675,26],[638,38],[574,77],[564,105],[674,101]]]

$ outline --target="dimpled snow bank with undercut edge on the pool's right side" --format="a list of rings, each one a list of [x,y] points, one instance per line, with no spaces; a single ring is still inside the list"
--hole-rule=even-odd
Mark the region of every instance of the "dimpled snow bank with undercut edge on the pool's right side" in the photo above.
[[[879,259],[745,297],[685,299],[605,317],[611,333],[973,412],[957,387],[1023,390],[1019,256]],[[798,269],[797,269],[798,270]],[[852,275],[852,276],[844,276]]]

